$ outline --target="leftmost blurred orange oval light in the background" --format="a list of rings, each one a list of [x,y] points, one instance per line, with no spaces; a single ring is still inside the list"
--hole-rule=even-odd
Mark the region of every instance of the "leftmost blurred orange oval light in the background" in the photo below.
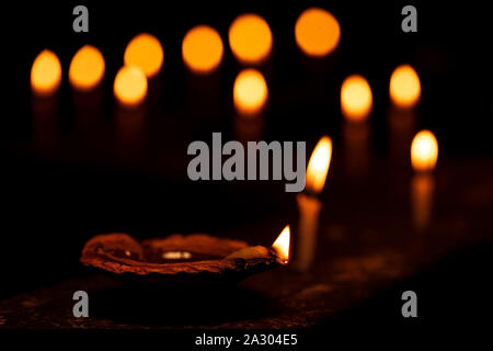
[[[44,49],[34,59],[31,68],[31,88],[38,95],[50,95],[61,81],[61,66],[57,55]]]

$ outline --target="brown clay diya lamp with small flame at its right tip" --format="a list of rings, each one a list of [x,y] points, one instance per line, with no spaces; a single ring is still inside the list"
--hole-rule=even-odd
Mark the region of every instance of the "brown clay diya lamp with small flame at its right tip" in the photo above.
[[[217,286],[286,264],[289,226],[272,248],[205,234],[137,241],[114,233],[91,238],[80,261],[124,282],[165,288]]]

